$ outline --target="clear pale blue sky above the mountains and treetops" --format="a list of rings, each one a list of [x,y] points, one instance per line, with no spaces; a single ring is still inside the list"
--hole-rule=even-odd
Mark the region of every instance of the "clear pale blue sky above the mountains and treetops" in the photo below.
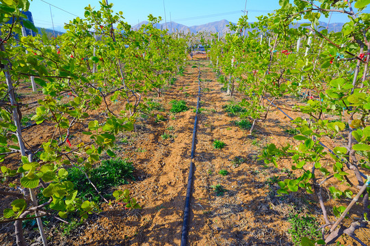
[[[105,0],[103,0],[105,1]],[[114,11],[122,11],[127,23],[135,25],[138,22],[147,19],[148,14],[161,16],[163,23],[165,12],[163,0],[108,0],[114,3]],[[292,0],[291,0],[292,2]],[[83,17],[84,8],[87,5],[99,8],[98,0],[33,0],[30,1],[30,11],[34,16],[34,22],[37,27],[52,29],[51,13],[56,31],[60,31],[64,23],[68,23],[77,16]],[[55,5],[55,8],[52,5]],[[217,20],[226,19],[237,22],[238,18],[243,15],[246,0],[164,0],[166,7],[166,18],[183,25],[201,25]],[[256,16],[261,16],[278,9],[280,6],[278,0],[247,0],[248,17],[250,21],[256,20]],[[61,8],[66,12],[58,9]],[[51,12],[50,12],[51,9]],[[369,10],[369,8],[367,8]],[[67,13],[69,12],[69,13]],[[369,11],[366,11],[369,13]],[[323,20],[325,21],[325,20]],[[347,16],[343,14],[332,14],[330,23],[345,23]]]

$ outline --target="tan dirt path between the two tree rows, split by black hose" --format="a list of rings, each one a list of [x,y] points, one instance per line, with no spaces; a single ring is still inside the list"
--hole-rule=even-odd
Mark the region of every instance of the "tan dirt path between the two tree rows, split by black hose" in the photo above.
[[[196,107],[198,68],[193,66],[200,67],[201,113],[189,245],[289,245],[289,223],[282,218],[286,214],[270,209],[270,190],[265,184],[270,172],[277,171],[256,162],[260,147],[252,145],[256,139],[250,139],[247,131],[235,126],[232,121],[238,118],[223,109],[230,98],[221,91],[208,62],[191,61],[185,77],[161,100],[166,105],[185,95],[187,105]],[[146,151],[131,157],[145,177],[127,188],[143,209],[127,212],[120,204],[114,203],[114,209],[107,206],[101,217],[91,219],[75,245],[180,245],[194,116],[194,110],[189,110],[170,116],[159,128],[146,131],[148,126],[140,127],[142,141],[139,137],[135,148]],[[176,137],[161,139],[170,126]],[[215,139],[224,141],[226,147],[215,150]],[[220,175],[221,169],[228,175]],[[225,190],[223,195],[214,191],[217,184]]]

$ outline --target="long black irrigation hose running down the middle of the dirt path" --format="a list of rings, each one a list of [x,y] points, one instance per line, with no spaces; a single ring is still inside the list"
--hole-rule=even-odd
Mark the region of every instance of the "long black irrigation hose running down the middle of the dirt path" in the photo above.
[[[184,220],[183,220],[183,230],[181,232],[181,246],[187,245],[187,235],[189,234],[189,215],[190,215],[190,198],[191,198],[191,186],[193,184],[193,174],[194,174],[194,153],[196,148],[196,126],[198,124],[198,109],[200,101],[200,69],[198,75],[198,100],[196,103],[196,117],[194,120],[194,129],[193,129],[193,139],[191,140],[191,154],[190,154],[190,167],[189,167],[189,177],[187,178],[187,189],[186,189],[186,198],[185,198],[185,208],[184,208]]]

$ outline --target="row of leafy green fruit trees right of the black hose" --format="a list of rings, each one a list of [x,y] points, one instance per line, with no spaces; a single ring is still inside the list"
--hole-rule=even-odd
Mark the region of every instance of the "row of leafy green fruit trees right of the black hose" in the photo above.
[[[301,190],[319,201],[325,222],[322,239],[304,238],[302,244],[330,244],[347,234],[366,245],[356,230],[367,227],[370,209],[370,14],[362,13],[370,1],[279,3],[280,10],[255,23],[240,18],[230,27],[235,34],[213,38],[212,64],[226,77],[230,96],[235,91],[245,96],[241,104],[253,126],[266,120],[279,98],[305,100],[292,109],[285,107],[302,114],[291,121],[299,131],[294,136],[298,144],[270,144],[261,155],[276,166],[291,159],[292,169],[300,170],[296,178],[278,183],[280,194]],[[332,13],[348,20],[341,32],[328,33],[319,25],[321,16]],[[250,30],[246,36],[244,29]],[[329,116],[337,120],[331,122]],[[332,152],[322,143],[332,143]],[[327,191],[338,206],[328,205]],[[345,226],[342,219],[356,202],[359,217]]]

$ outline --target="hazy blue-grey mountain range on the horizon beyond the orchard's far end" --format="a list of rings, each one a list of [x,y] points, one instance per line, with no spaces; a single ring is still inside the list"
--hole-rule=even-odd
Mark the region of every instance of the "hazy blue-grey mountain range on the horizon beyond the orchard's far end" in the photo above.
[[[147,24],[147,23],[148,23],[147,21],[138,23],[137,25],[134,25],[132,29],[134,30],[139,29],[142,25]],[[172,24],[172,28],[171,28],[171,24]],[[215,21],[213,23],[207,23],[203,25],[195,25],[195,26],[187,27],[185,25],[181,25],[179,23],[175,23],[172,21],[172,23],[167,23],[167,29],[170,33],[175,32],[175,31],[180,31],[184,33],[189,33],[189,32],[197,33],[197,32],[207,31],[207,32],[212,32],[212,33],[224,34],[224,33],[230,32],[230,29],[226,27],[226,25],[229,25],[229,24],[230,22],[224,19],[220,21]],[[233,24],[236,25],[236,23],[233,23]],[[299,23],[298,26],[294,26],[294,28],[300,27],[300,24],[303,24],[303,23]],[[327,26],[328,26],[328,23],[320,22],[319,27],[322,27],[322,29],[325,29]],[[159,29],[166,29],[166,23],[157,24],[156,27]],[[331,23],[328,26],[328,31],[338,32],[338,31],[341,31],[342,27],[343,27],[343,23]],[[247,29],[246,31],[251,31],[251,29]]]

